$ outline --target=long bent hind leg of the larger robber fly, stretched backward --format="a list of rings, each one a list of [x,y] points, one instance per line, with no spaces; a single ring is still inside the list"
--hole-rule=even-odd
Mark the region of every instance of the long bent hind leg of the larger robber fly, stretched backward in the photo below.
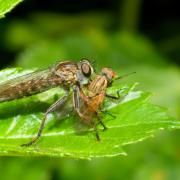
[[[42,131],[44,129],[44,125],[45,125],[45,121],[47,119],[47,115],[53,111],[55,111],[56,109],[60,108],[66,101],[69,95],[69,91],[65,90],[65,95],[58,99],[54,104],[52,104],[46,111],[44,118],[42,119],[41,125],[39,127],[37,136],[35,138],[33,138],[30,142],[26,143],[26,144],[22,144],[21,146],[31,146],[32,144],[34,144],[40,137],[42,134]]]

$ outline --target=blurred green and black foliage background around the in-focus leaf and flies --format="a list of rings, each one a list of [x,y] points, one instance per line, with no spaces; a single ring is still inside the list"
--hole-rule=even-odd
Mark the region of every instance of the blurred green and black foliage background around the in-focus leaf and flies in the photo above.
[[[27,0],[0,20],[0,68],[46,68],[95,60],[153,92],[180,119],[180,12],[175,0]],[[0,157],[0,179],[180,179],[180,132],[126,147],[127,156],[91,161]]]

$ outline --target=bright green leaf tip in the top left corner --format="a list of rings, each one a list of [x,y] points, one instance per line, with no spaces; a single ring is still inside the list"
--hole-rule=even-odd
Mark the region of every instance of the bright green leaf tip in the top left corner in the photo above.
[[[10,12],[22,0],[0,0],[0,18]]]

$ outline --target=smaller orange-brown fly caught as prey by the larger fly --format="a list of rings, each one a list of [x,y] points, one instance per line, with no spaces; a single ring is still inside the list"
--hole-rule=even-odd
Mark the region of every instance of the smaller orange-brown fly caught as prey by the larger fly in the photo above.
[[[95,79],[88,85],[86,93],[85,91],[79,89],[79,87],[77,87],[77,89],[75,90],[73,96],[74,109],[85,124],[94,128],[98,141],[100,140],[100,137],[96,127],[97,124],[95,119],[97,119],[98,123],[100,123],[103,126],[103,129],[106,130],[106,126],[101,121],[100,112],[111,115],[107,111],[101,110],[104,99],[105,97],[119,99],[120,92],[123,90],[118,90],[117,96],[113,96],[111,94],[107,94],[106,89],[112,84],[113,80],[121,79],[127,75],[129,74],[117,77],[116,73],[110,68],[103,68],[101,70],[101,74],[96,75]]]

